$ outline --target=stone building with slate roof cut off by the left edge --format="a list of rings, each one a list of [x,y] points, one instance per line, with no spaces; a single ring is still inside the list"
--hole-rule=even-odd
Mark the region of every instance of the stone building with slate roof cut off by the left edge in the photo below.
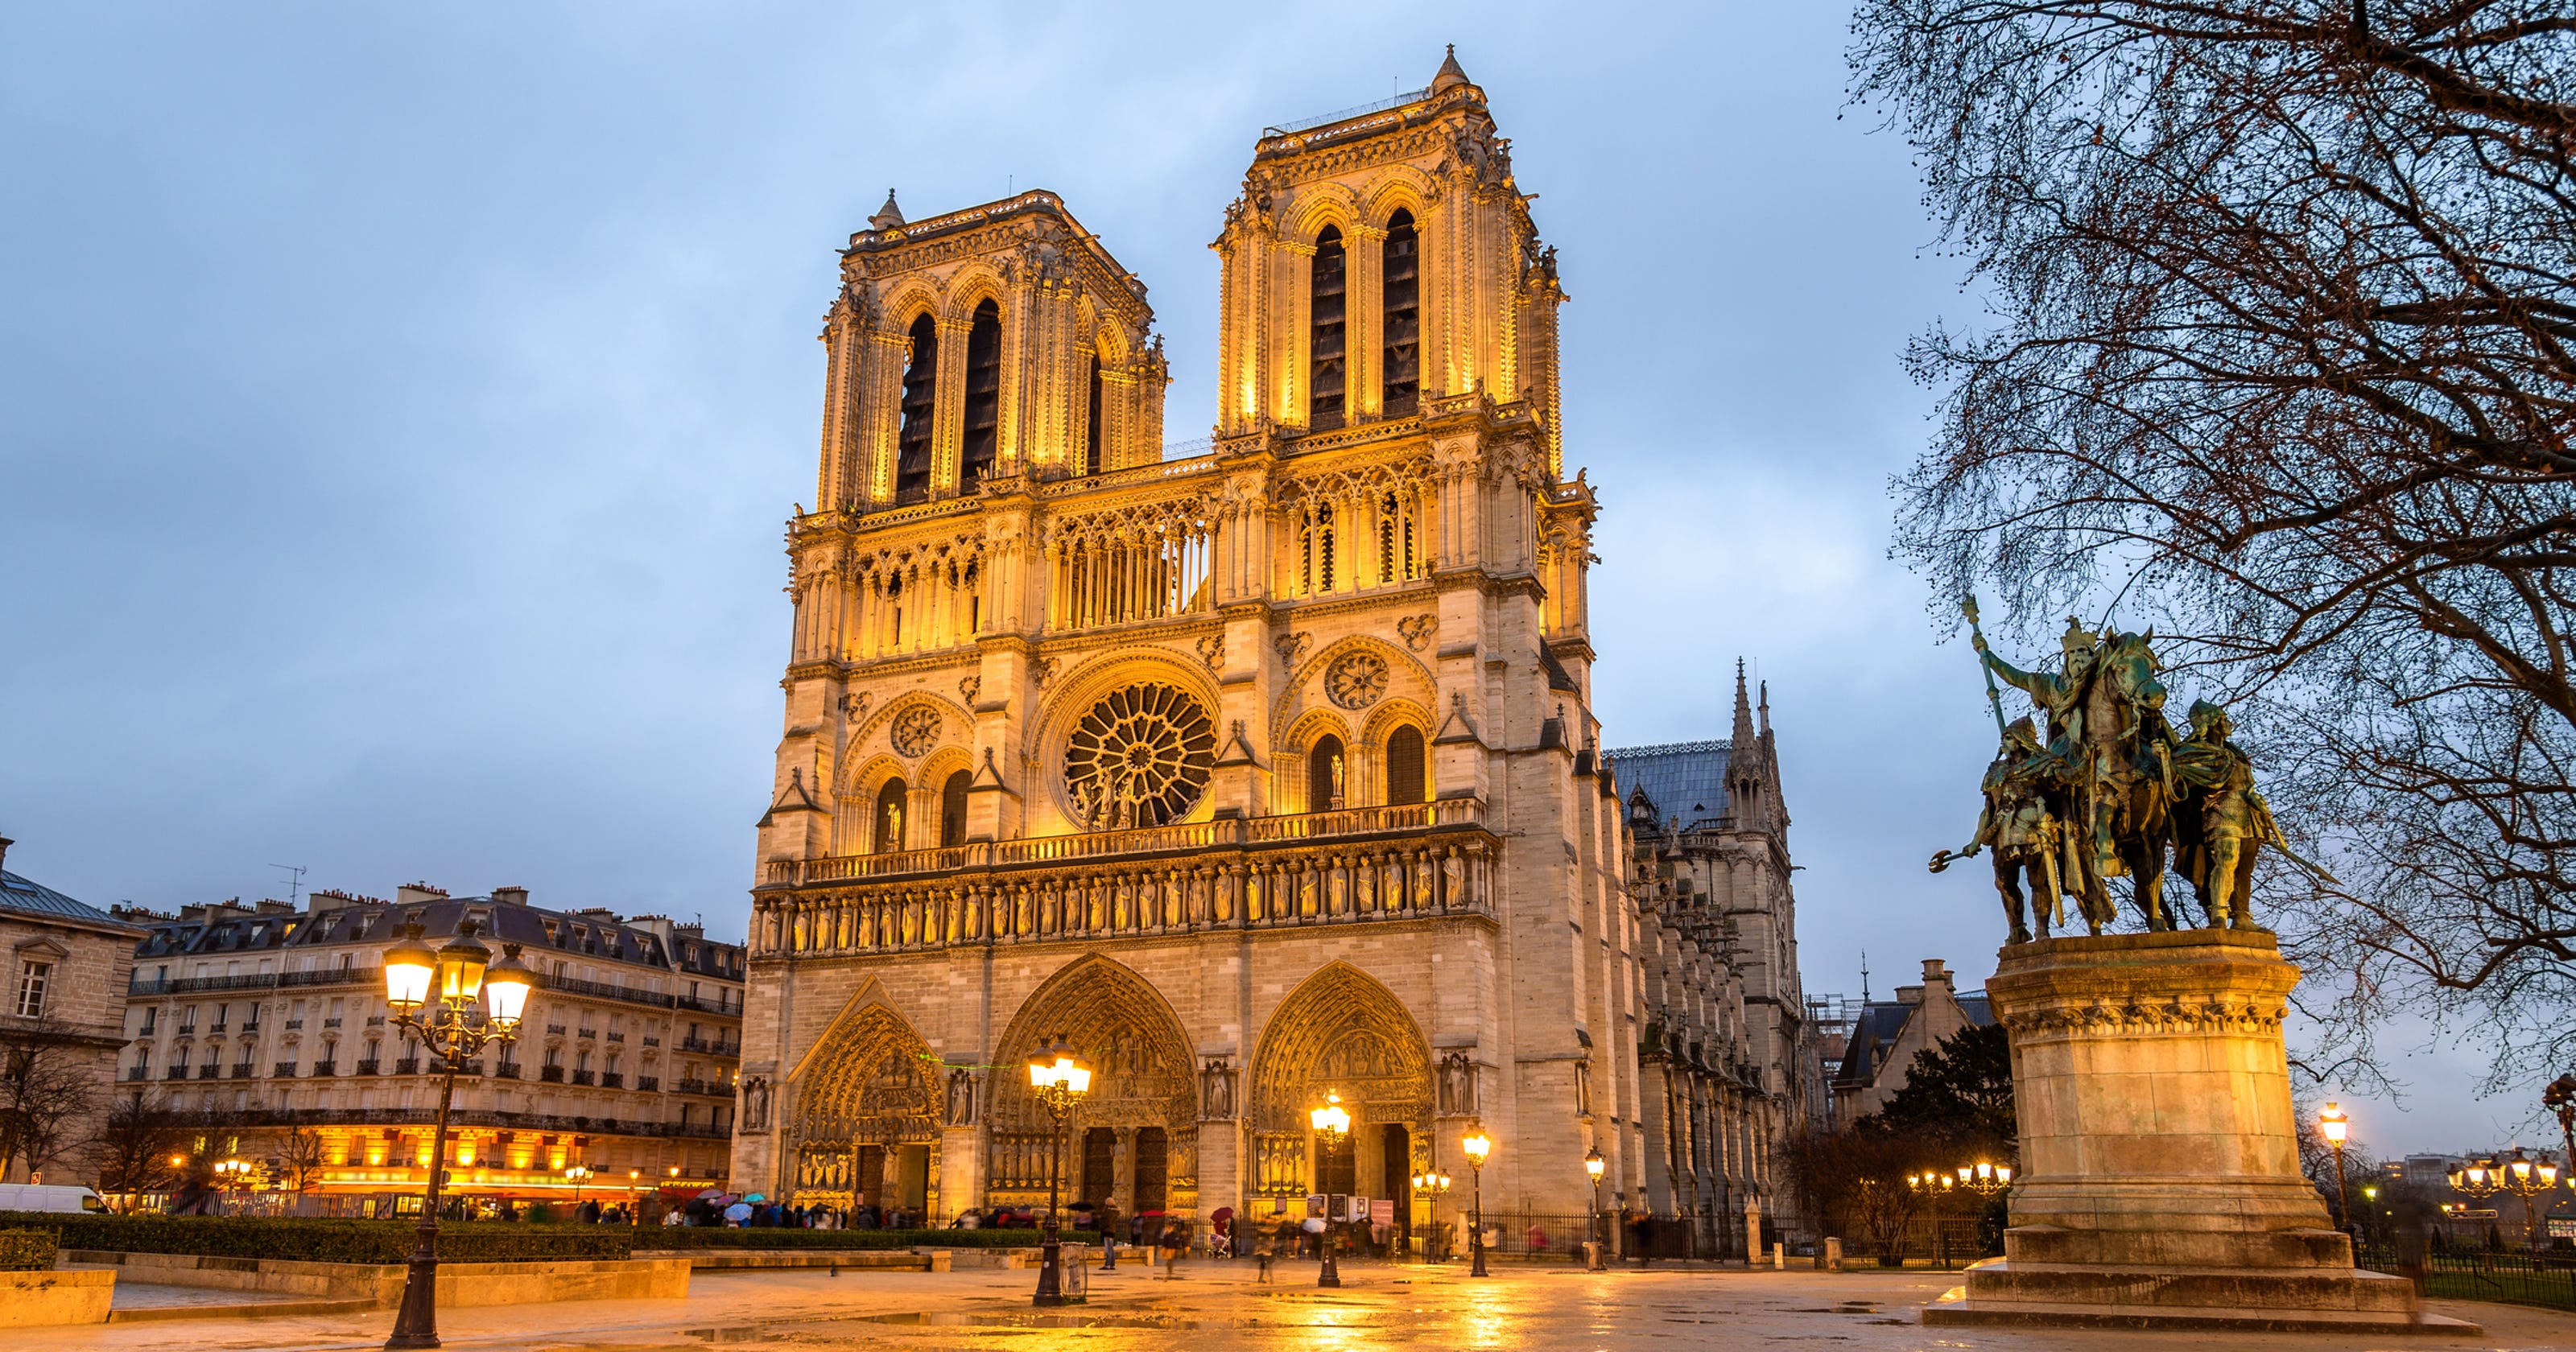
[[[0,837],[0,860],[10,840]],[[41,1066],[39,1092],[88,1100],[85,1110],[54,1123],[44,1159],[15,1151],[0,1161],[0,1182],[95,1182],[85,1146],[98,1136],[116,1079],[116,1048],[124,1046],[124,1004],[116,991],[134,963],[134,937],[142,930],[108,912],[18,873],[0,870],[0,953],[8,955],[8,986],[0,986],[0,1051],[10,1061],[31,1053]],[[62,1071],[64,1079],[54,1079]],[[21,1089],[26,1092],[26,1089]],[[54,1102],[77,1102],[62,1100]],[[49,1105],[36,1105],[46,1113]]]

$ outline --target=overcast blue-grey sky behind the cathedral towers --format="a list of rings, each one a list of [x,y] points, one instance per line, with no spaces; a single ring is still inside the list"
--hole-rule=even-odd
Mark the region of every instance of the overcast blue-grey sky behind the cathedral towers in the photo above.
[[[974,13],[966,13],[974,10]],[[1221,15],[1221,18],[1218,18]],[[502,883],[739,937],[835,247],[1054,188],[1213,417],[1265,124],[1455,41],[1564,250],[1610,744],[1770,682],[1811,994],[1976,986],[1973,657],[1886,559],[1973,319],[1904,147],[1793,5],[52,5],[0,44],[0,832],[93,904]],[[2045,644],[2004,644],[2038,657]],[[2496,1141],[2450,1056],[2357,1107]],[[2499,1125],[2501,1123],[2501,1125]]]

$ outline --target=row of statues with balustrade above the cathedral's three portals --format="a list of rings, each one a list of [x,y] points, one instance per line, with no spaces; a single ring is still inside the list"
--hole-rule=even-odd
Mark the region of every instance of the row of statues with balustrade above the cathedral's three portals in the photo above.
[[[1188,822],[1126,832],[775,860],[755,899],[760,958],[992,943],[1494,922],[1502,842],[1484,803]],[[922,888],[940,873],[940,888]]]

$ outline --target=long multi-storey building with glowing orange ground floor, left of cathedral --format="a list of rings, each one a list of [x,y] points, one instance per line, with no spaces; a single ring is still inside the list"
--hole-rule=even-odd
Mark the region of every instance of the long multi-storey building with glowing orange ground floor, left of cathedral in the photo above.
[[[314,1190],[407,1195],[425,1182],[440,1061],[386,1020],[384,950],[420,922],[430,945],[471,919],[495,955],[523,948],[538,989],[520,1035],[466,1061],[448,1125],[453,1192],[569,1197],[629,1185],[714,1182],[729,1167],[742,1056],[742,945],[698,925],[554,912],[526,888],[394,901],[317,891],[185,906],[134,948],[126,1092],[160,1089],[201,1115],[209,1151],[268,1156],[322,1138]]]

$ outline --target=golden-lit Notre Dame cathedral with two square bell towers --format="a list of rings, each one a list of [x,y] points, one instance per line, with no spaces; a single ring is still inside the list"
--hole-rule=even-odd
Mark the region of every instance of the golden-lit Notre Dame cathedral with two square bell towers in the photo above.
[[[889,193],[842,250],[732,1185],[1043,1203],[1020,1064],[1064,1035],[1066,1197],[1419,1228],[1484,1128],[1489,1216],[1584,1216],[1597,1149],[1605,1205],[1739,1249],[1803,1100],[1747,1079],[1734,922],[1600,752],[1566,296],[1484,90],[1450,57],[1262,131],[1213,247],[1188,453],[1144,283],[1054,193]],[[1744,855],[1785,919],[1785,847]]]

